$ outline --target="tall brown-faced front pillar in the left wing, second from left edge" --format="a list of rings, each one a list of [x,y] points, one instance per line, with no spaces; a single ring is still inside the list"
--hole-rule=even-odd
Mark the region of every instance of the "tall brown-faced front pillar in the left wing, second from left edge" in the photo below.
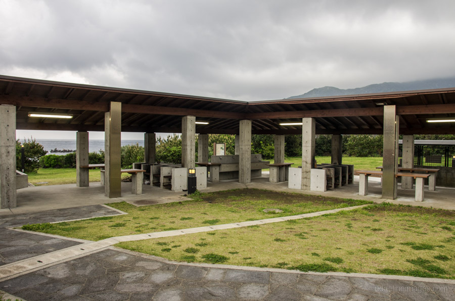
[[[105,137],[105,195],[107,197],[121,196],[121,103],[111,102],[110,111],[105,113],[104,137]]]

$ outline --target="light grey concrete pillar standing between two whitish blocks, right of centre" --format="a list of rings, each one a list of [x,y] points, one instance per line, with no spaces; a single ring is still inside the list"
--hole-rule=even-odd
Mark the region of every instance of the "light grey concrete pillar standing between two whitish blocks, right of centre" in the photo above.
[[[302,190],[311,189],[311,168],[316,152],[316,123],[313,118],[302,119]]]

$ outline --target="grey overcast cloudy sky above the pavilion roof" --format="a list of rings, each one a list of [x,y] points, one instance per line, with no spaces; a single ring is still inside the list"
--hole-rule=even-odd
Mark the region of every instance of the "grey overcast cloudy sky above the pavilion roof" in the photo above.
[[[0,0],[0,74],[245,101],[455,75],[455,2]]]

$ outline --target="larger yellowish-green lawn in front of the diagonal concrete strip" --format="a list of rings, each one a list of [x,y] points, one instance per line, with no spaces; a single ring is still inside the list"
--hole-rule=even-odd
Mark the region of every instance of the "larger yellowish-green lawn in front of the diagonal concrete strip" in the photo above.
[[[302,220],[118,246],[175,261],[187,261],[185,249],[197,245],[192,262],[207,262],[207,254],[216,254],[230,265],[455,279],[455,232],[444,228],[454,218],[455,211],[383,203]],[[161,252],[158,242],[180,247]]]

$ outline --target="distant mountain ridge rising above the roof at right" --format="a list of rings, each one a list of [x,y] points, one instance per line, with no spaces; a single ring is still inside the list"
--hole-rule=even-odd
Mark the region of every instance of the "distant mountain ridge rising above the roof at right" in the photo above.
[[[324,97],[324,96],[339,96],[339,95],[354,95],[368,93],[382,93],[395,91],[410,91],[410,90],[425,90],[455,87],[455,77],[439,78],[429,80],[419,80],[411,82],[384,82],[382,84],[372,84],[361,88],[354,89],[339,89],[336,87],[315,88],[305,94],[291,96],[289,98],[308,98],[308,97]]]

